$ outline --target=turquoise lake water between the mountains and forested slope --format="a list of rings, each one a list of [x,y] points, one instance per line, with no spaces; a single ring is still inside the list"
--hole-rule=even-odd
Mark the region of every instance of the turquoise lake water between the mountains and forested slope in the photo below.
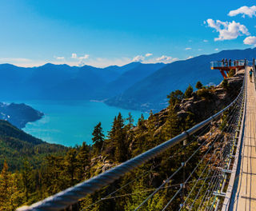
[[[130,112],[134,122],[137,122],[142,114],[140,111],[107,106],[102,102],[25,101],[24,103],[42,111],[45,116],[38,121],[27,123],[23,130],[43,141],[66,146],[81,145],[83,141],[90,145],[91,133],[99,121],[102,122],[102,129],[107,134],[118,112],[122,113],[122,117],[128,117]],[[143,115],[148,117],[148,113]]]

